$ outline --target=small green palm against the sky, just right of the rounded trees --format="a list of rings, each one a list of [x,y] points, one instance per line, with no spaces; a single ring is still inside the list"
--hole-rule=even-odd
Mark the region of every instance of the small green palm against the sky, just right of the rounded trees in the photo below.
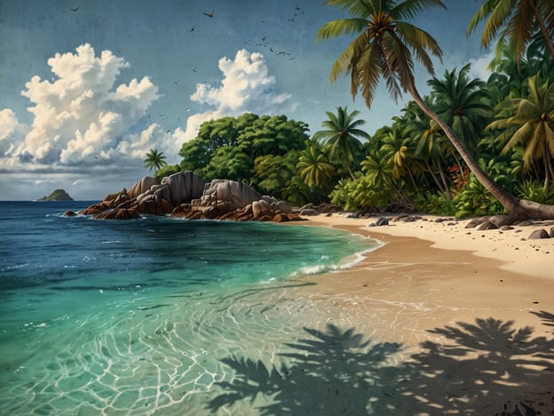
[[[363,138],[369,140],[369,134],[360,130],[360,125],[366,124],[364,120],[355,120],[360,111],[354,110],[348,113],[348,108],[337,107],[336,115],[327,111],[328,120],[321,123],[327,130],[321,130],[313,135],[314,140],[321,140],[329,146],[329,158],[332,160],[342,160],[344,167],[354,179],[354,174],[350,167],[352,160],[360,153],[362,148],[360,140]]]

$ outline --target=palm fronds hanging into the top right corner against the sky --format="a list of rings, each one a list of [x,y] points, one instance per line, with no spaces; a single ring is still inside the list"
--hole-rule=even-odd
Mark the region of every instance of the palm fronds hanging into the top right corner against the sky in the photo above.
[[[554,57],[550,33],[554,25],[552,0],[486,0],[470,21],[468,36],[483,20],[487,20],[487,23],[481,36],[482,47],[486,48],[503,28],[500,32],[501,41],[508,37],[510,48],[515,52],[516,62],[519,63],[538,25],[546,46]]]

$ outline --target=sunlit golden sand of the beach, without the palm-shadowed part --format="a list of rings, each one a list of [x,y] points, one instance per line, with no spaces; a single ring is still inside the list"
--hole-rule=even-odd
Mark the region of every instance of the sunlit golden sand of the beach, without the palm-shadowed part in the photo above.
[[[552,323],[539,315],[554,314],[554,239],[521,241],[545,226],[500,234],[464,228],[469,220],[447,225],[436,218],[368,227],[375,219],[310,217],[306,226],[340,228],[383,245],[351,268],[305,276],[311,285],[293,295],[334,300],[356,315],[352,324],[365,326],[360,317],[368,314],[379,322],[374,338],[407,348],[419,348],[433,328],[488,318],[551,339]]]

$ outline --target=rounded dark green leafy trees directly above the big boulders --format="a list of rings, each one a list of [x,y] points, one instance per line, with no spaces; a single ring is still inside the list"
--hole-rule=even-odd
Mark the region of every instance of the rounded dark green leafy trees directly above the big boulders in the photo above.
[[[250,113],[210,120],[181,147],[180,168],[207,181],[243,181],[279,197],[296,173],[297,152],[309,140],[307,128],[286,116]]]

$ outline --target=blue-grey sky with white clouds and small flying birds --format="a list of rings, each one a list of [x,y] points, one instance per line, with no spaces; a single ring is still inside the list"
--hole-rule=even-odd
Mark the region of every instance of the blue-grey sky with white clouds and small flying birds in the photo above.
[[[353,100],[348,76],[329,83],[352,36],[316,42],[345,17],[322,0],[0,0],[0,200],[63,188],[78,200],[152,175],[146,152],[178,151],[202,122],[281,115],[317,132],[327,111],[360,111],[371,134],[391,124],[384,84],[372,108]],[[470,62],[487,77],[491,51],[466,28],[478,2],[444,0],[412,22],[434,36],[436,76]],[[430,76],[416,65],[416,84]]]

